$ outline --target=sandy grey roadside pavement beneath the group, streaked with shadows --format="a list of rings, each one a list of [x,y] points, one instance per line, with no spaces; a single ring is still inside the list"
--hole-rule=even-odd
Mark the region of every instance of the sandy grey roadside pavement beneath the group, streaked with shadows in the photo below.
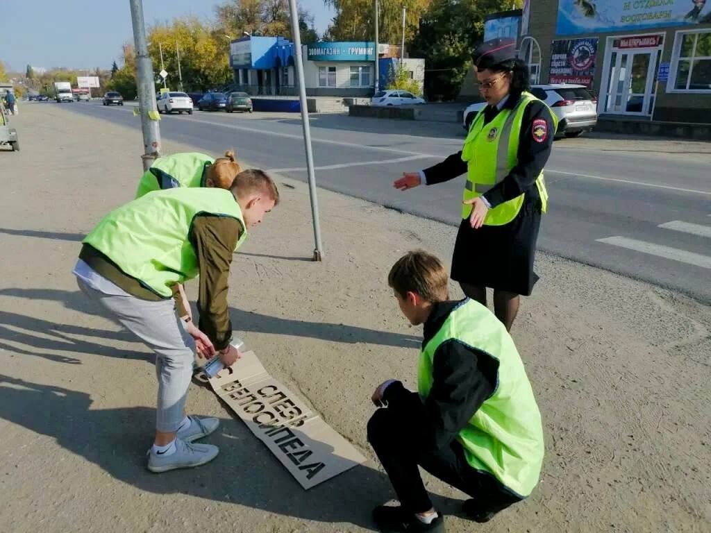
[[[139,119],[127,129],[28,105],[14,125],[23,149],[0,153],[0,530],[373,531],[370,509],[392,497],[376,463],[305,492],[197,385],[188,409],[222,419],[207,439],[220,456],[145,470],[152,357],[95,315],[70,274],[82,236],[132,198]],[[370,394],[389,377],[416,387],[421,334],[399,316],[387,271],[416,247],[449,262],[456,230],[320,190],[326,257],[315,264],[306,185],[278,183],[282,205],[235,256],[232,322],[274,377],[373,459]],[[479,526],[453,516],[461,493],[427,478],[448,531],[711,530],[710,309],[544,254],[538,273],[513,336],[545,421],[540,486]]]

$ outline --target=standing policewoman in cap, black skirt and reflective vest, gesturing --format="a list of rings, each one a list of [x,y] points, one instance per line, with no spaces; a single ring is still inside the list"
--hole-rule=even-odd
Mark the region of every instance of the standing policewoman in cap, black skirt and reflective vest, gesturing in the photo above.
[[[557,119],[527,92],[528,69],[515,57],[515,41],[486,41],[472,59],[488,105],[472,121],[462,150],[403,174],[395,187],[434,185],[467,173],[451,278],[483,305],[486,288],[493,289],[494,313],[510,330],[520,295],[530,296],[538,281],[533,259],[547,206],[542,171]]]

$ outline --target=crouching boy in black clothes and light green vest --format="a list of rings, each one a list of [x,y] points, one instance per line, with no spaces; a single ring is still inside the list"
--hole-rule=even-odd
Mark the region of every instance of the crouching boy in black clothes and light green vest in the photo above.
[[[442,262],[409,252],[388,276],[402,314],[424,324],[417,392],[388,379],[368,441],[399,507],[375,507],[384,530],[444,532],[418,465],[468,494],[466,515],[487,522],[530,495],[543,460],[543,432],[523,362],[504,325],[474,300],[448,300]]]

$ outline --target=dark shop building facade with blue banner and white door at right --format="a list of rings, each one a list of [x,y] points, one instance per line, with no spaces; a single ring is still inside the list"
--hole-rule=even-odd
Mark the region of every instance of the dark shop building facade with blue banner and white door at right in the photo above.
[[[711,123],[711,2],[534,0],[520,57],[533,82],[574,82],[602,115]]]

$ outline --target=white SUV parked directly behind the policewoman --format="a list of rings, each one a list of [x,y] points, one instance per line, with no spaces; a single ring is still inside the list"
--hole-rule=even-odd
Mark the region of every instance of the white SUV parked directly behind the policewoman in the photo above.
[[[578,137],[597,124],[597,97],[584,85],[533,85],[530,92],[545,102],[558,117],[557,136]],[[471,121],[484,107],[486,102],[479,102],[464,109],[461,125],[466,131],[469,131]]]

